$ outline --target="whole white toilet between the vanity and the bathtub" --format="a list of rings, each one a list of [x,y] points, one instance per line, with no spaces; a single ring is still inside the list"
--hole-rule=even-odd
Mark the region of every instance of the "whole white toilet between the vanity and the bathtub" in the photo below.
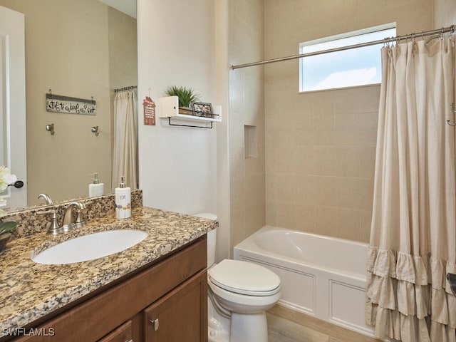
[[[196,216],[217,219],[214,214]],[[266,310],[280,299],[273,271],[247,261],[214,264],[217,229],[207,233],[209,342],[267,342]]]

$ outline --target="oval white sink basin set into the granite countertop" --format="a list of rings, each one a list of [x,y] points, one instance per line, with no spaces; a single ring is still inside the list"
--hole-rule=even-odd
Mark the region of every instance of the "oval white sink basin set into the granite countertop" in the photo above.
[[[125,251],[147,237],[147,232],[116,229],[76,237],[36,254],[38,264],[59,265],[88,261]]]

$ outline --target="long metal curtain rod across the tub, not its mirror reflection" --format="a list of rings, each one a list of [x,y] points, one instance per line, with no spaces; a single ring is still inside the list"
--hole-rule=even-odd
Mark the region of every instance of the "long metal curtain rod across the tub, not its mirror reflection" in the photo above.
[[[232,70],[234,70],[234,69],[239,69],[239,68],[247,68],[248,66],[261,66],[263,64],[269,64],[269,63],[275,63],[275,62],[281,62],[281,61],[289,61],[291,59],[316,56],[316,55],[321,55],[323,53],[350,50],[351,48],[362,48],[364,46],[377,45],[380,43],[387,44],[387,43],[391,43],[394,41],[402,41],[404,39],[415,39],[415,38],[420,38],[420,37],[424,37],[424,36],[432,36],[435,34],[443,34],[443,33],[447,33],[447,32],[453,33],[454,31],[455,31],[455,25],[452,25],[452,26],[448,26],[445,28],[439,28],[437,30],[425,31],[425,32],[420,32],[420,33],[411,33],[411,34],[407,34],[405,36],[395,36],[395,37],[390,37],[390,38],[384,38],[384,39],[379,39],[378,41],[368,41],[366,43],[359,43],[359,44],[354,44],[354,45],[349,45],[349,46],[343,46],[341,48],[329,48],[328,50],[323,50],[323,51],[315,51],[315,52],[309,52],[309,53],[301,53],[299,55],[294,55],[294,56],[266,59],[266,61],[237,64],[237,65],[232,65],[231,68],[232,68]]]

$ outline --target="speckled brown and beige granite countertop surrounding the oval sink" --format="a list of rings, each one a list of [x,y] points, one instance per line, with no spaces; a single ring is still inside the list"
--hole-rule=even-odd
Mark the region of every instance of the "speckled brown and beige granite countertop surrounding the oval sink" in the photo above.
[[[68,234],[43,232],[12,240],[0,255],[0,337],[6,335],[6,329],[24,327],[202,237],[217,225],[210,219],[139,207],[129,219],[115,219],[110,214]],[[67,239],[110,229],[140,229],[149,235],[123,252],[91,261],[63,265],[31,261],[32,254]]]

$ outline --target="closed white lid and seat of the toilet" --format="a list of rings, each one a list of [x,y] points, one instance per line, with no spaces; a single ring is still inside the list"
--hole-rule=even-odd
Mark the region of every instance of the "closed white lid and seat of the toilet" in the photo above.
[[[271,296],[280,291],[280,278],[252,262],[224,259],[209,269],[209,281],[227,291],[250,296]]]

